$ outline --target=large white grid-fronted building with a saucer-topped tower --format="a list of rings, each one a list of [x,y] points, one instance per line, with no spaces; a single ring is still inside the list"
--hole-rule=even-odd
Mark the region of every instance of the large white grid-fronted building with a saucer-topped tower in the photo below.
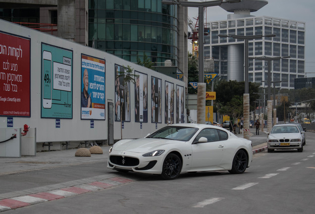
[[[226,20],[208,24],[210,33],[206,36],[205,57],[213,57],[214,70],[225,80],[244,81],[244,40],[225,35],[268,35],[273,38],[249,41],[249,56],[288,56],[271,61],[271,81],[276,87],[294,89],[294,79],[305,77],[305,22],[268,16],[253,16],[268,3],[266,0],[242,0],[239,3],[222,4],[228,12]],[[267,87],[267,61],[249,59],[249,81]]]

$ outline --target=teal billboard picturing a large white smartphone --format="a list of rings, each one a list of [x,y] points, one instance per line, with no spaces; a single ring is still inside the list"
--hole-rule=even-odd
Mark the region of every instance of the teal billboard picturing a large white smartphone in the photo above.
[[[42,118],[72,118],[71,50],[42,43]]]

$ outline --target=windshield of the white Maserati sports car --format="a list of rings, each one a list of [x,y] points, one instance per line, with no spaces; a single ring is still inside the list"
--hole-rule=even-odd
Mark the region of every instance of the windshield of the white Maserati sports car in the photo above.
[[[179,141],[189,141],[198,128],[183,127],[183,126],[165,126],[147,138],[161,138]]]

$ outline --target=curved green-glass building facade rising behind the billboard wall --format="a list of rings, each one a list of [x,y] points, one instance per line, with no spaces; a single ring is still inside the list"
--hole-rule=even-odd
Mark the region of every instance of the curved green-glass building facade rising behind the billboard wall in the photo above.
[[[144,54],[161,66],[178,66],[177,6],[162,0],[89,0],[88,43],[128,61]]]

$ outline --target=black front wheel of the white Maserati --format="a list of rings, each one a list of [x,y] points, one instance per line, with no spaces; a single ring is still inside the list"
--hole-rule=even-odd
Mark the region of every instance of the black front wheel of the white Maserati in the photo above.
[[[162,178],[166,180],[175,179],[182,169],[182,161],[175,154],[168,154],[163,162]]]

